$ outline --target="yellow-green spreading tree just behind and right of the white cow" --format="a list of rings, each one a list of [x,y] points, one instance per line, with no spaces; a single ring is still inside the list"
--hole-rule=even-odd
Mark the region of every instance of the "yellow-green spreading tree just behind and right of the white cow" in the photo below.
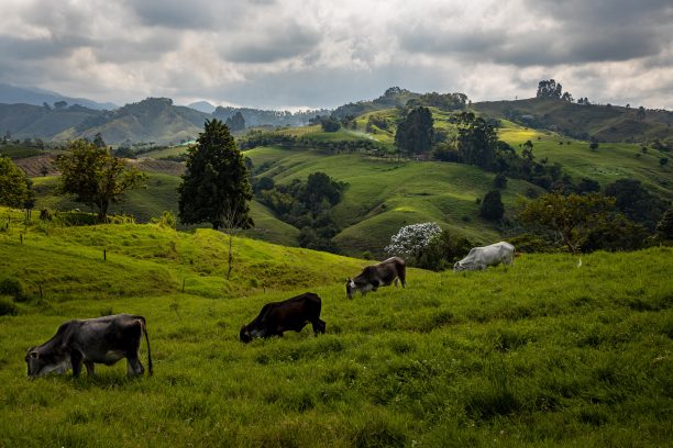
[[[518,219],[533,232],[551,232],[574,254],[593,229],[608,221],[614,208],[615,200],[599,193],[548,193],[527,203]]]

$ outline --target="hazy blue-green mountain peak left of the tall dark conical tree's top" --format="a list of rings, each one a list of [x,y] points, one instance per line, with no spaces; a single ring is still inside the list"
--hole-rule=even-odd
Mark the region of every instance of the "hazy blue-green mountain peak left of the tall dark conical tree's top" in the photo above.
[[[55,136],[55,139],[92,138],[100,133],[108,144],[126,141],[178,144],[195,139],[212,115],[185,105],[174,105],[169,98],[147,98],[113,111],[90,116]]]

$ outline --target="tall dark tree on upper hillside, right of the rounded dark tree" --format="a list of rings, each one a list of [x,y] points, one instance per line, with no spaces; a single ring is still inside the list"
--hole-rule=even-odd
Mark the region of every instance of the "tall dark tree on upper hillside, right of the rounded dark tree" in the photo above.
[[[461,113],[457,124],[457,150],[461,161],[482,169],[492,169],[498,148],[496,128],[472,112]]]

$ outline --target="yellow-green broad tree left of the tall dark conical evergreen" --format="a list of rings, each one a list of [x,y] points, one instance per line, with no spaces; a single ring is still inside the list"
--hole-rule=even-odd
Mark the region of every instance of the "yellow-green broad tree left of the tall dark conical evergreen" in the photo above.
[[[108,148],[90,142],[70,142],[67,150],[56,159],[60,170],[58,190],[74,194],[77,202],[96,206],[100,222],[107,221],[111,202],[118,202],[126,191],[141,187],[147,179],[137,168],[128,167],[122,159],[110,155]]]

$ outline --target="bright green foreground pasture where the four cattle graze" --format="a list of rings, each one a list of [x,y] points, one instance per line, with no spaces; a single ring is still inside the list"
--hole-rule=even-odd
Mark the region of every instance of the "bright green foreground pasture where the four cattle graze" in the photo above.
[[[5,215],[3,211],[0,219]],[[3,228],[4,226],[0,226]],[[530,255],[509,269],[411,270],[345,299],[362,261],[152,225],[0,232],[2,276],[44,299],[0,316],[2,446],[666,446],[673,253]],[[108,260],[101,257],[108,248]],[[186,279],[186,292],[180,281]],[[629,279],[628,284],[624,279]],[[283,290],[283,291],[282,291]],[[327,334],[242,345],[264,303],[315,291]],[[25,378],[74,317],[147,318],[155,374]],[[141,357],[146,365],[143,343]],[[495,441],[494,441],[495,440]]]

